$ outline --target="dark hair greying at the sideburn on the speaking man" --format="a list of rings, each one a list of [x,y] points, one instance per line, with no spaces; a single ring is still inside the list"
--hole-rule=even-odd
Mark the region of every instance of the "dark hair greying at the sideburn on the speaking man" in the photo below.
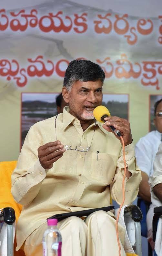
[[[97,81],[104,83],[105,73],[103,69],[90,60],[72,60],[66,69],[63,86],[70,90],[76,81]]]

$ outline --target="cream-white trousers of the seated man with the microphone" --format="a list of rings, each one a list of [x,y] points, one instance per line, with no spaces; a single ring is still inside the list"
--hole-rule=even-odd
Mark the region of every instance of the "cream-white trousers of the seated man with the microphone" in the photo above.
[[[62,235],[62,256],[118,256],[116,219],[109,212],[97,211],[81,218],[72,216],[58,223]],[[42,238],[47,223],[38,227],[25,241],[26,256],[42,255]],[[125,228],[118,224],[121,256],[124,251]]]

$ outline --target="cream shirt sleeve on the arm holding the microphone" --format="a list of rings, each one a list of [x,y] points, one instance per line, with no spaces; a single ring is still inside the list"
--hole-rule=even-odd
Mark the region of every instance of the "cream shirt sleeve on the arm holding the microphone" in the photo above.
[[[125,147],[126,156],[126,166],[129,172],[131,172],[131,177],[125,178],[125,201],[124,205],[131,204],[137,197],[139,184],[141,182],[141,170],[136,165],[135,150],[133,142]],[[124,176],[124,159],[123,159],[123,149],[121,149],[119,158],[117,161],[117,167],[114,179],[110,184],[111,197],[118,204],[122,203],[123,193],[122,193],[122,182]]]

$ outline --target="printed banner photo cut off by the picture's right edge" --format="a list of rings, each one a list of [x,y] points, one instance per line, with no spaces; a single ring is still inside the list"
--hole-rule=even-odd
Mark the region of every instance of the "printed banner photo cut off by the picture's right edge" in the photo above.
[[[154,105],[157,101],[162,99],[162,94],[150,95],[150,121],[149,121],[149,131],[154,131],[157,128],[154,125]]]

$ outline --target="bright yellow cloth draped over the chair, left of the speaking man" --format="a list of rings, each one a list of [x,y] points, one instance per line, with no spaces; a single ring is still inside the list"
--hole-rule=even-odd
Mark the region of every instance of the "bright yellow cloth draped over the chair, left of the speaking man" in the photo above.
[[[12,207],[15,210],[16,222],[20,216],[22,205],[15,202],[11,194],[11,174],[16,167],[17,161],[0,162],[0,209]],[[14,249],[16,248],[16,239],[14,241]],[[22,250],[15,251],[15,256],[23,256]]]

